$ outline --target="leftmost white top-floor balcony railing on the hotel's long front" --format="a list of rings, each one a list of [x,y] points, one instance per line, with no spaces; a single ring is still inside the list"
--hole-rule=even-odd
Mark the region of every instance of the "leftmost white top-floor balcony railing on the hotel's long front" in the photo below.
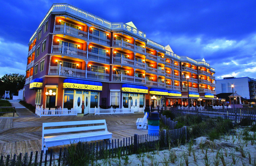
[[[65,25],[55,25],[53,27],[53,33],[68,34],[69,36],[73,36],[73,37],[80,38],[83,40],[88,40],[87,32],[81,31],[79,29],[76,29],[76,28],[73,28],[70,26],[66,26],[66,23],[65,23]]]

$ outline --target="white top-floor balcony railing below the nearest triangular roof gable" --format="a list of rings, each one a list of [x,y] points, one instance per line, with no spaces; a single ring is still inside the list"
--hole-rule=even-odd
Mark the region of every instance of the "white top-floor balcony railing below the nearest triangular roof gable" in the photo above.
[[[129,50],[132,50],[132,51],[136,51],[140,54],[145,54],[146,53],[146,49],[145,48],[142,48],[140,46],[136,46],[132,43],[129,43],[127,41],[123,41],[123,40],[114,40],[113,41],[113,47],[123,47],[125,49],[129,49]]]

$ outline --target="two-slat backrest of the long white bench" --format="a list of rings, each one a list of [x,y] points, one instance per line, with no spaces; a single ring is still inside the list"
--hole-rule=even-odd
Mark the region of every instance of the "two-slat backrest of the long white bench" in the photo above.
[[[68,128],[58,128],[58,129],[44,129],[44,127],[83,125],[83,124],[103,124],[103,125],[84,126],[84,127],[68,127]],[[77,131],[98,130],[98,129],[105,129],[105,131],[108,131],[105,119],[69,121],[69,122],[49,122],[49,123],[43,123],[42,137],[44,137],[44,134],[61,133],[61,132],[77,132]]]

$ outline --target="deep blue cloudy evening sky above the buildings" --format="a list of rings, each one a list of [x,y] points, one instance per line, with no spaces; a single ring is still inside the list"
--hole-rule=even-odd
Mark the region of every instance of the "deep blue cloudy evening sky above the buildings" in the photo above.
[[[60,2],[60,1],[59,1]],[[25,74],[28,42],[55,1],[2,1],[0,19],[0,77]],[[205,58],[216,79],[256,79],[256,2],[115,0],[66,1],[111,22],[130,22],[147,38],[174,53]]]

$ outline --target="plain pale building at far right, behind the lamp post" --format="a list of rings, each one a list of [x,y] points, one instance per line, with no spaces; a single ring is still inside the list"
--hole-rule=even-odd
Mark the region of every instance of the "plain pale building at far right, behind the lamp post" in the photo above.
[[[234,85],[234,92],[242,95],[244,99],[256,99],[256,79],[249,77],[227,77],[224,79],[216,80],[216,92],[220,93],[232,93],[231,85]]]

